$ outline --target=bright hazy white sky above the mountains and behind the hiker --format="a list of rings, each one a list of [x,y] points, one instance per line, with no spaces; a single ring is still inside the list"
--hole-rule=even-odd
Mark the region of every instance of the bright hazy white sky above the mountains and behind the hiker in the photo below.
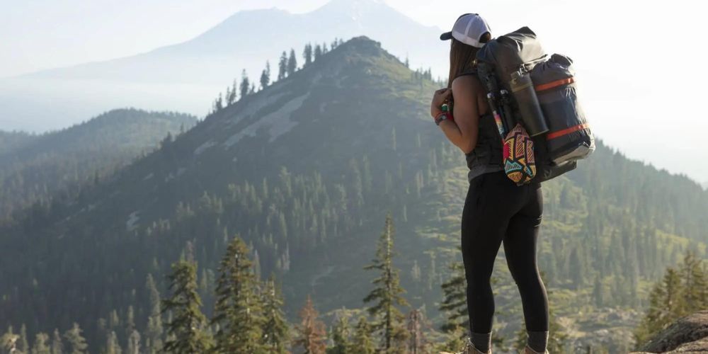
[[[0,77],[182,42],[239,10],[278,7],[299,13],[327,2],[0,1]],[[420,23],[446,30],[464,12],[481,13],[493,35],[529,25],[547,52],[576,61],[583,103],[600,137],[631,157],[708,180],[708,164],[697,162],[708,153],[700,143],[708,131],[700,79],[708,54],[701,1],[385,2]]]

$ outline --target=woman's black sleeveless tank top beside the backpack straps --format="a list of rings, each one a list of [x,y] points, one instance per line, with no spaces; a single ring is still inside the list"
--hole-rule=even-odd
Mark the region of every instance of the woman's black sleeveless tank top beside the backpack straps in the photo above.
[[[476,74],[476,70],[473,69],[471,72],[459,76]],[[472,181],[472,178],[482,173],[502,171],[504,169],[502,149],[501,137],[499,137],[499,130],[493,115],[491,113],[480,115],[477,143],[472,152],[464,155],[467,160],[467,168],[469,168],[467,179]]]

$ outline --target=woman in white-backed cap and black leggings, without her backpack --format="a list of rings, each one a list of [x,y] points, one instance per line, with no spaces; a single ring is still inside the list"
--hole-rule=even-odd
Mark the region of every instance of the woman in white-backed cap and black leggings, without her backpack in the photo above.
[[[548,300],[536,265],[541,185],[517,186],[503,171],[501,139],[474,62],[477,50],[491,40],[489,25],[476,13],[467,13],[440,39],[452,40],[450,76],[447,88],[435,91],[430,114],[447,139],[464,152],[469,167],[462,260],[471,336],[462,353],[491,353],[494,298],[489,281],[502,243],[523,304],[528,333],[524,353],[547,353]],[[451,116],[442,112],[442,103],[450,98]]]

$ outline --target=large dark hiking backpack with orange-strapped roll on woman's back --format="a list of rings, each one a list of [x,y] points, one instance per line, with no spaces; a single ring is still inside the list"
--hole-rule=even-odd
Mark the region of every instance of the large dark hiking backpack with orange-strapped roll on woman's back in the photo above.
[[[476,62],[490,109],[501,118],[500,128],[510,132],[520,124],[531,135],[536,169],[531,181],[571,171],[595,150],[569,57],[549,57],[536,34],[523,27],[486,43]]]

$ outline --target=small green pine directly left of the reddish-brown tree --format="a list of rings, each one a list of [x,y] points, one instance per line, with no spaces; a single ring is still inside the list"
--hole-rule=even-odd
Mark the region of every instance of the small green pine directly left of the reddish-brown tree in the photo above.
[[[265,281],[263,292],[263,340],[268,353],[287,353],[287,343],[290,341],[287,320],[282,312],[282,294],[280,287],[275,285],[275,275]]]

